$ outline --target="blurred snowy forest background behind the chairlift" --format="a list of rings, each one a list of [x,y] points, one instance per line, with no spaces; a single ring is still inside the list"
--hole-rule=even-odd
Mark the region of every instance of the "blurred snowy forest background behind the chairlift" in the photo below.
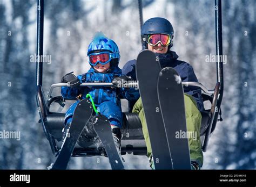
[[[117,42],[122,68],[141,49],[138,2],[133,0],[45,0],[43,88],[74,70],[89,69],[87,46],[95,31]],[[256,1],[223,1],[223,119],[204,153],[203,169],[256,167]],[[37,123],[35,70],[37,2],[0,0],[0,131],[21,131],[21,140],[0,139],[0,169],[45,169],[55,156]],[[199,82],[215,85],[214,1],[144,0],[144,21],[164,17],[175,35],[173,51],[190,62]],[[100,163],[96,160],[100,158]],[[150,169],[146,156],[125,155],[128,169]],[[73,157],[70,169],[110,169],[104,157]]]

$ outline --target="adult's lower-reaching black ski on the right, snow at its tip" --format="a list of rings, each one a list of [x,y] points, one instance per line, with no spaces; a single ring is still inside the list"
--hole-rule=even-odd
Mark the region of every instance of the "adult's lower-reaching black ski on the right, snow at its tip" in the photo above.
[[[173,169],[191,169],[184,91],[181,78],[173,68],[162,69],[158,77],[158,99],[172,155]]]

